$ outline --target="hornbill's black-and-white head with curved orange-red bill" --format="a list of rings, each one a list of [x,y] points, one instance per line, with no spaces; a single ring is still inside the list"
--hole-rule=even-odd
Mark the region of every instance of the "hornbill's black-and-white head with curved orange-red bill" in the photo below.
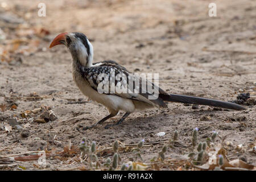
[[[73,61],[80,61],[85,67],[92,65],[93,46],[87,37],[80,32],[62,33],[52,40],[49,48],[57,45],[65,45],[71,52]]]

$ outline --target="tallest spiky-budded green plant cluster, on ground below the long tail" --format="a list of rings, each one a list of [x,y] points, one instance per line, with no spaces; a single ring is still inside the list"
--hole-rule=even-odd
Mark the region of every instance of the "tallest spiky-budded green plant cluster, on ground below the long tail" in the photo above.
[[[189,158],[193,159],[193,164],[195,165],[199,165],[203,163],[205,156],[208,155],[207,152],[205,151],[207,146],[210,148],[211,145],[214,145],[215,139],[218,134],[216,131],[213,131],[212,136],[210,138],[207,138],[204,142],[199,142],[197,144],[198,130],[199,129],[196,127],[192,131],[191,143],[192,143],[193,151],[188,154]],[[222,159],[223,159],[223,156],[222,156]],[[223,163],[223,160],[222,160],[222,163]]]

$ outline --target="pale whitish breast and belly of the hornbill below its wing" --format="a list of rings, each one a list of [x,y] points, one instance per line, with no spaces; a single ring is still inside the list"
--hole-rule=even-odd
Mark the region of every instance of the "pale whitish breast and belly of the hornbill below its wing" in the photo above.
[[[127,98],[108,94],[100,94],[94,90],[84,78],[79,75],[74,75],[74,80],[76,85],[85,96],[89,97],[90,100],[96,101],[108,107],[109,110],[124,110],[130,113],[135,110],[133,101]]]

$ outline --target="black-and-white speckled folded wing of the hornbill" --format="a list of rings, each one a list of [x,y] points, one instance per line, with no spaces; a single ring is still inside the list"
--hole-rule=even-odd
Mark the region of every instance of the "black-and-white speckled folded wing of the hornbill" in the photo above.
[[[152,89],[157,89],[159,94],[167,94],[166,92],[158,88],[158,86],[154,85],[152,82],[144,80],[145,78],[131,74],[126,68],[115,63],[115,61],[102,61],[93,64],[90,68],[83,67],[81,69],[85,80],[87,80],[90,86],[97,92],[98,89],[101,88],[101,85],[104,84],[105,88],[106,85],[109,86],[109,88],[107,88],[107,92],[103,94],[112,94],[131,100],[146,102],[154,106],[167,107],[160,97],[149,100],[148,98],[150,98],[149,96],[152,96],[152,94],[148,93],[146,88],[147,86],[151,86]],[[107,81],[109,82],[107,83]],[[137,81],[137,84],[135,84],[135,81]],[[146,81],[146,86],[142,86],[143,81]],[[113,86],[115,89],[112,88]],[[123,88],[125,91],[118,92],[117,88]],[[137,90],[137,93],[134,93],[134,90]]]

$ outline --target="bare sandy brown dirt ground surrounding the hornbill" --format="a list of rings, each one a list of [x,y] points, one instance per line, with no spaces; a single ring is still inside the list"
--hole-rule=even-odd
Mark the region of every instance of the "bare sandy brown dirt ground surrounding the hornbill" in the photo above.
[[[39,2],[46,3],[45,17],[38,16]],[[133,113],[110,129],[104,126],[123,112],[105,125],[82,130],[108,111],[88,101],[76,87],[67,48],[48,48],[61,32],[83,32],[93,44],[95,62],[115,60],[131,72],[159,73],[159,84],[168,93],[230,101],[249,92],[256,98],[256,2],[214,1],[217,17],[212,18],[208,16],[210,2],[0,1],[0,51],[5,53],[0,61],[0,154],[61,152],[65,146],[79,146],[84,137],[96,141],[97,148],[111,147],[115,140],[132,145],[144,139],[145,145],[156,142],[143,148],[143,162],[150,163],[176,130],[181,146],[168,148],[166,158],[183,160],[197,127],[200,140],[212,131],[226,136],[229,160],[240,158],[255,166],[255,105],[233,111],[170,103],[168,109]],[[30,111],[41,106],[52,109],[57,119],[35,122],[42,110]],[[13,117],[27,133],[5,130]],[[156,136],[159,132],[166,135]],[[105,160],[112,155],[98,157]],[[121,158],[127,162],[133,155],[122,152]],[[47,158],[47,169],[79,167],[84,164],[73,158]],[[21,168],[41,169],[37,160],[19,161],[7,169]]]

